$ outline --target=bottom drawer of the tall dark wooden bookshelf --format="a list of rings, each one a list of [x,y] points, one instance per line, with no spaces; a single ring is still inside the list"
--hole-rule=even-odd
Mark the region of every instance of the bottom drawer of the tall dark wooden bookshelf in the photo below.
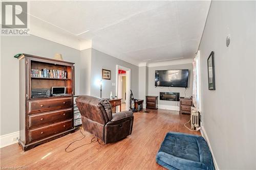
[[[29,141],[36,139],[42,139],[52,135],[56,135],[60,132],[67,131],[72,128],[73,119],[66,120],[57,124],[29,130]]]

